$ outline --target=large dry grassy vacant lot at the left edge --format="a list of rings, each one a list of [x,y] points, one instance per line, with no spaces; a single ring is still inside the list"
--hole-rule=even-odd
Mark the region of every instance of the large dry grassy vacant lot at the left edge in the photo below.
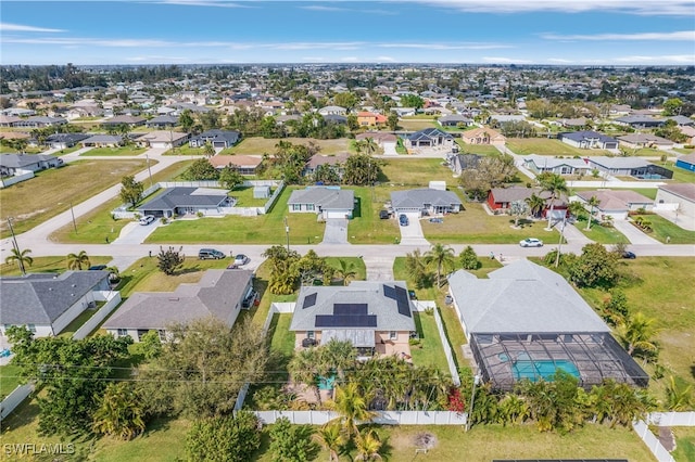
[[[0,190],[0,238],[9,235],[8,217],[15,233],[35,226],[121,182],[146,168],[144,159],[80,161],[37,174],[36,178]],[[103,239],[103,238],[102,238]]]

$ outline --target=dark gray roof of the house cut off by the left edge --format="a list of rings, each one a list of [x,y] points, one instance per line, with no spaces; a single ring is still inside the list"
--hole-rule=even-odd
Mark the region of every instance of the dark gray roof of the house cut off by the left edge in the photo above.
[[[51,324],[108,278],[109,271],[0,278],[0,319],[3,324]]]

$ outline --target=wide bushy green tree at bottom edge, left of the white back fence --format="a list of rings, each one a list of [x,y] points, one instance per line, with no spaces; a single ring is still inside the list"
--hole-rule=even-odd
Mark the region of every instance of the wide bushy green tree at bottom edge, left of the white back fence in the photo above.
[[[186,435],[189,461],[247,462],[261,447],[258,418],[239,411],[235,416],[222,415],[197,420]]]

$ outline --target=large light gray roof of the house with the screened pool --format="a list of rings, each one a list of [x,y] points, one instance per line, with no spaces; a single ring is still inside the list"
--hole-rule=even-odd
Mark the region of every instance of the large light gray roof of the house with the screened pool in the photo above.
[[[610,332],[569,283],[547,268],[521,259],[488,277],[459,270],[448,278],[467,334]]]

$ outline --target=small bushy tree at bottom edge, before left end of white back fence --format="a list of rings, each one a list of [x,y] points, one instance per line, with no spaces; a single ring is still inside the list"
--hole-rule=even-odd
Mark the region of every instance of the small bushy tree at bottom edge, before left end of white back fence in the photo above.
[[[292,425],[287,418],[275,421],[270,428],[273,462],[307,462],[316,455],[311,425]]]

